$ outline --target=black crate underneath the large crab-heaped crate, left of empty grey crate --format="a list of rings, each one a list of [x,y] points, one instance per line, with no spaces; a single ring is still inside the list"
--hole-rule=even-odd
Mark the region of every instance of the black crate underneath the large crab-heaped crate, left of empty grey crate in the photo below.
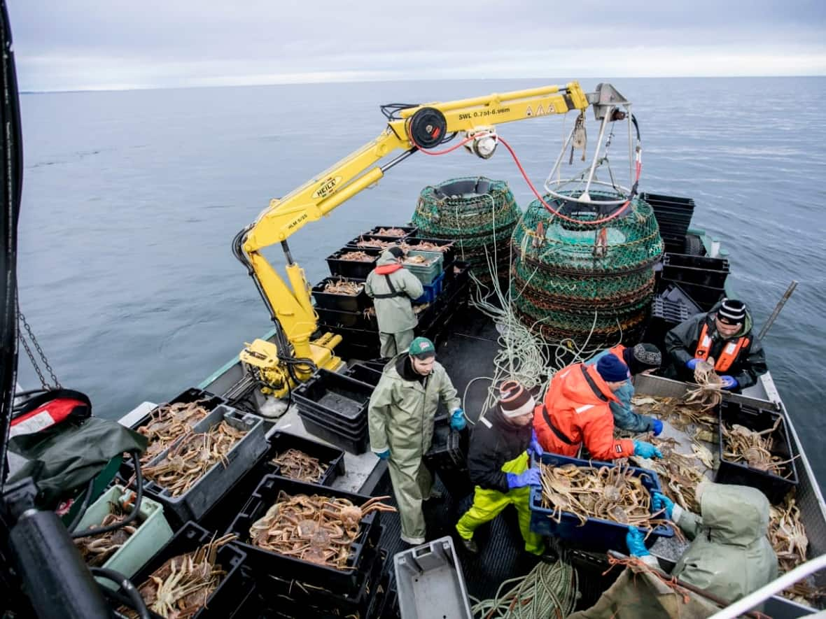
[[[387,560],[387,552],[380,548],[364,551],[364,560],[358,581],[348,593],[332,593],[324,585],[301,583],[274,576],[257,577],[263,607],[278,609],[287,617],[376,617],[369,613],[374,606],[377,588],[382,580],[382,568]],[[268,612],[263,613],[269,616]]]

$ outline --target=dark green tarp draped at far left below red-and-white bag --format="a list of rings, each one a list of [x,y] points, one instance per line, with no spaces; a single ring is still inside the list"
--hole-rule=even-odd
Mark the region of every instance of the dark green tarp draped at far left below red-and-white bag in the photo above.
[[[37,503],[54,508],[71,490],[88,484],[112,458],[146,449],[146,437],[116,421],[89,417],[82,423],[59,423],[40,432],[13,437],[9,450],[26,463],[8,483],[31,477],[40,493]]]

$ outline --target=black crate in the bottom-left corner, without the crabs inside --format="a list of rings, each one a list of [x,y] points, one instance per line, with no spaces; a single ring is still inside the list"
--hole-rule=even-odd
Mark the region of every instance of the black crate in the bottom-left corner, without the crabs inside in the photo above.
[[[140,585],[149,580],[150,575],[155,569],[159,569],[161,565],[172,559],[173,557],[185,555],[199,547],[208,544],[216,537],[215,533],[207,531],[202,527],[198,527],[194,522],[187,522],[183,528],[178,531],[171,540],[158,550],[158,552],[135,574],[135,578],[131,579],[135,588],[140,588]],[[221,583],[211,595],[207,598],[207,603],[192,615],[192,619],[208,619],[215,617],[216,619],[223,619],[223,617],[230,617],[235,612],[235,608],[246,597],[246,591],[242,582],[241,565],[244,563],[246,555],[237,546],[232,543],[224,544],[216,552],[216,564],[221,565],[226,574],[221,577]],[[121,598],[123,597],[121,593]],[[118,615],[120,617],[120,615]],[[150,617],[159,619],[159,615],[150,611]]]

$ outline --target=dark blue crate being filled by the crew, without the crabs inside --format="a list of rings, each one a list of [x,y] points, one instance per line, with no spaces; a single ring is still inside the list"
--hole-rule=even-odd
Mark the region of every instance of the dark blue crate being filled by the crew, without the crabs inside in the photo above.
[[[614,468],[614,462],[596,462],[580,460],[578,458],[568,458],[557,454],[544,453],[542,462],[546,465],[563,466],[567,464],[576,465],[582,468],[602,468],[607,466]],[[638,477],[643,487],[648,490],[648,494],[662,492],[660,480],[653,470],[638,469],[631,467],[634,477]],[[530,489],[530,530],[541,535],[560,537],[571,546],[582,550],[592,550],[594,552],[605,552],[607,550],[617,550],[625,548],[625,536],[628,533],[628,525],[620,524],[602,518],[587,518],[585,524],[581,524],[578,517],[572,513],[563,512],[559,522],[551,517],[553,508],[542,507],[542,489]],[[648,532],[648,529],[640,528],[641,531]],[[674,529],[667,525],[657,525],[648,535],[645,541],[646,546],[652,546],[659,537],[674,536]]]

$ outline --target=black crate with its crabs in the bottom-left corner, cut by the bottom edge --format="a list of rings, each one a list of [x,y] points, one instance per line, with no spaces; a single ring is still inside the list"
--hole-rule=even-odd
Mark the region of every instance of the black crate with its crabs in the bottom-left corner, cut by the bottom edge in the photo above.
[[[132,579],[150,617],[230,617],[248,594],[241,573],[246,555],[231,541],[187,522]],[[129,598],[113,597],[125,602],[117,616],[139,617]]]

